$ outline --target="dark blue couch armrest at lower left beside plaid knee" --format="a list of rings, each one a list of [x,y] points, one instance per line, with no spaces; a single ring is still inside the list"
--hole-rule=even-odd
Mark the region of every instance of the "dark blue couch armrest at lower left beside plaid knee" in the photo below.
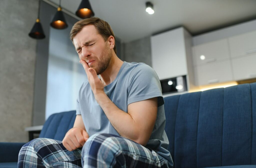
[[[0,163],[18,162],[19,151],[26,143],[0,142]]]

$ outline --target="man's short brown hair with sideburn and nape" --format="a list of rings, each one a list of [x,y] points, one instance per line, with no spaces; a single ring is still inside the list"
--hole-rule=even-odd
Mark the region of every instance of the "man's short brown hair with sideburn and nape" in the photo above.
[[[70,39],[73,41],[73,38],[82,30],[82,28],[86,25],[94,25],[97,29],[98,33],[105,39],[105,41],[109,38],[109,36],[113,36],[115,39],[115,35],[113,30],[111,29],[108,22],[98,18],[98,17],[91,17],[88,19],[79,20],[77,23],[74,24],[70,31]],[[114,51],[116,54],[116,46],[114,46]]]

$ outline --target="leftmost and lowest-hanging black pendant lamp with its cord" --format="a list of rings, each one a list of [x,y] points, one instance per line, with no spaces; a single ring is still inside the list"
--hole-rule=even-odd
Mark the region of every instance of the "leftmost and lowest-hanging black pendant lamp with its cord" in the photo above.
[[[40,13],[40,1],[39,0],[39,5],[38,5],[38,14],[37,14],[37,19],[36,19],[36,23],[34,24],[34,26],[32,27],[30,33],[28,34],[31,38],[35,38],[35,39],[43,39],[45,38],[45,34],[42,28],[42,25],[40,23],[39,20],[39,13]]]

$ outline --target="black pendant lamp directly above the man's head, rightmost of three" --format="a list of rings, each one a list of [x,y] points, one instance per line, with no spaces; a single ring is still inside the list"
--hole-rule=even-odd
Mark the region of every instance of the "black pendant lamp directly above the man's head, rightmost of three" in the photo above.
[[[82,0],[77,9],[76,15],[82,19],[94,16],[94,12],[92,10],[89,0]]]

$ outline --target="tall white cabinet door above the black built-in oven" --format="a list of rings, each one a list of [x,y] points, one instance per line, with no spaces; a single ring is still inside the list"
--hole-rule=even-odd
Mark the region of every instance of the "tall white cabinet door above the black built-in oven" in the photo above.
[[[160,80],[187,74],[183,28],[151,37],[152,68]]]

